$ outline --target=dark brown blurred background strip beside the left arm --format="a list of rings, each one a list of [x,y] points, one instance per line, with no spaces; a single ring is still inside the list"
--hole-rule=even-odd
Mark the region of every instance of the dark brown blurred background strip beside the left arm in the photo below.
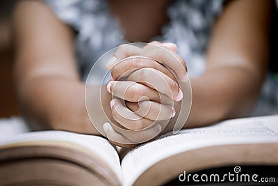
[[[19,115],[13,87],[10,17],[16,0],[0,1],[0,117]]]

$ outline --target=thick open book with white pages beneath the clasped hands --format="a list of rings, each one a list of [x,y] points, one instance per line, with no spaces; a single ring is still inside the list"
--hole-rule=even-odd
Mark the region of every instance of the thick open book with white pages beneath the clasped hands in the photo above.
[[[0,185],[161,185],[183,171],[238,164],[278,165],[278,115],[181,130],[133,149],[63,131],[0,143]]]

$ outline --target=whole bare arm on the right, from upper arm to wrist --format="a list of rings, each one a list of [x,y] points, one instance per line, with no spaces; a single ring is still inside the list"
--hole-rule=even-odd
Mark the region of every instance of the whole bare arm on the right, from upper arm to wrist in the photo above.
[[[213,26],[207,70],[190,79],[193,102],[185,127],[250,114],[268,68],[272,1],[229,1]]]

